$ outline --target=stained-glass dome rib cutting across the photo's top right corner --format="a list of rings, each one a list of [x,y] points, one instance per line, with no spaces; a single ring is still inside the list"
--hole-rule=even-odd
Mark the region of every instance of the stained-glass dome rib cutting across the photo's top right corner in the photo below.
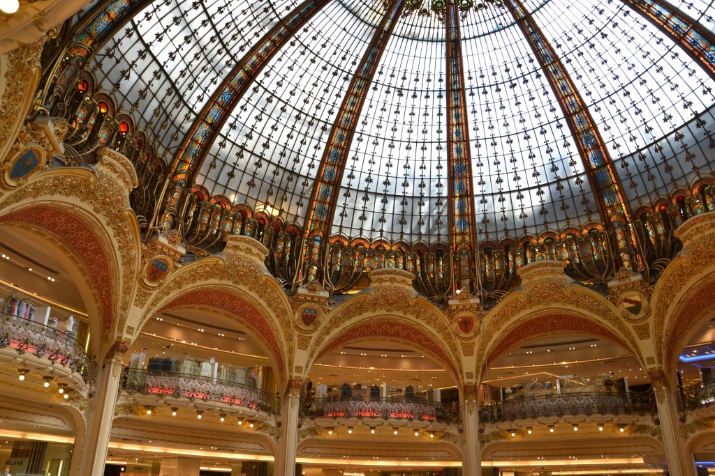
[[[680,45],[715,78],[715,35],[690,16],[663,0],[622,0]]]

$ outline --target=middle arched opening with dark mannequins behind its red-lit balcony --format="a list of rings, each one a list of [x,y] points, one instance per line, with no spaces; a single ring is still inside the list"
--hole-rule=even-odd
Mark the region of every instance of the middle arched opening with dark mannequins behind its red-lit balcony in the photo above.
[[[461,419],[458,383],[430,346],[418,342],[338,335],[317,356],[300,408],[311,435],[297,449],[306,471],[318,474],[316,458],[335,455],[342,460],[336,467],[365,474],[375,464],[461,465],[450,436]]]

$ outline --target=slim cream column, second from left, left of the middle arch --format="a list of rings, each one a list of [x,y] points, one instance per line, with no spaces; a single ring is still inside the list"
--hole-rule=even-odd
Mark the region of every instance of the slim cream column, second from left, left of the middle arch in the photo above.
[[[278,454],[275,457],[274,476],[295,476],[295,448],[298,440],[298,412],[300,411],[300,390],[302,380],[288,380],[285,397],[280,404],[280,422],[283,430],[278,440]]]

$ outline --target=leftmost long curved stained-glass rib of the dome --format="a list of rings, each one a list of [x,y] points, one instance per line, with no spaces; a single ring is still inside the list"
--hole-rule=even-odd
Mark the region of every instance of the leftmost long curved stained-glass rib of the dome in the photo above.
[[[193,183],[199,167],[209,153],[211,144],[228,121],[238,101],[248,91],[268,61],[293,37],[295,31],[300,30],[329,1],[303,1],[285,19],[267,31],[211,95],[172,161],[169,179],[162,192],[164,212],[159,224],[162,231],[169,231],[172,228],[184,191]]]

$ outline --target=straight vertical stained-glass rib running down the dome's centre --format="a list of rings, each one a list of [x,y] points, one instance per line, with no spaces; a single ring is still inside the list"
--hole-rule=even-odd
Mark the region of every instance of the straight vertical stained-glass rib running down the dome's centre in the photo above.
[[[451,248],[454,251],[455,290],[472,292],[473,256],[477,251],[472,193],[472,161],[467,127],[466,95],[462,74],[462,39],[457,0],[447,2],[445,14],[447,63],[447,178]]]

